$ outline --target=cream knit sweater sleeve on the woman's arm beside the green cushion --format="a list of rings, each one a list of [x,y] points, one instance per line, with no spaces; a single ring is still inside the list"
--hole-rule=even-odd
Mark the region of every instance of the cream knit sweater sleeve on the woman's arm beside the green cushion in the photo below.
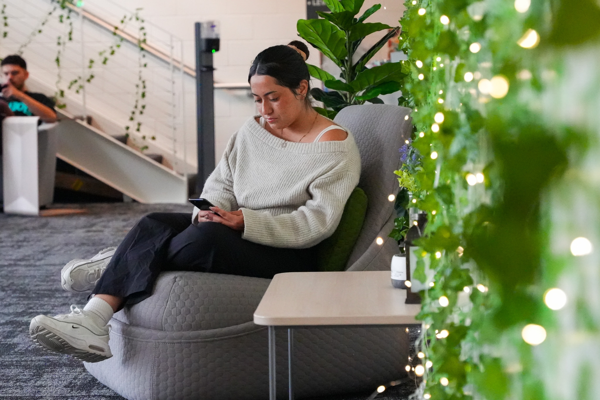
[[[316,179],[308,187],[311,200],[291,213],[274,216],[242,208],[242,237],[273,247],[300,249],[316,245],[334,233],[358,178],[356,173],[337,171]]]

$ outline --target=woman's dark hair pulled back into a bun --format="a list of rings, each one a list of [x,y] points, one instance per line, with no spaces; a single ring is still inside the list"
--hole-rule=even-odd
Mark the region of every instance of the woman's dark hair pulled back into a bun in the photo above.
[[[300,87],[302,80],[308,82],[308,92],[310,92],[310,74],[304,58],[290,46],[305,53],[306,58],[310,53],[306,44],[298,40],[290,41],[288,46],[280,44],[272,46],[260,52],[250,67],[248,73],[248,83],[254,75],[268,75],[277,80],[277,85],[284,86],[293,94],[298,95],[296,89]],[[307,92],[307,94],[308,94]],[[306,97],[307,105],[310,105],[310,99]]]

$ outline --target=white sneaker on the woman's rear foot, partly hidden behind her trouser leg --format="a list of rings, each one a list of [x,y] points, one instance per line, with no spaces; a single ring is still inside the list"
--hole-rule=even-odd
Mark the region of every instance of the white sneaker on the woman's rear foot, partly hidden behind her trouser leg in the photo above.
[[[115,250],[116,247],[109,247],[89,260],[75,258],[69,261],[61,270],[62,288],[73,293],[92,290],[106,270]]]

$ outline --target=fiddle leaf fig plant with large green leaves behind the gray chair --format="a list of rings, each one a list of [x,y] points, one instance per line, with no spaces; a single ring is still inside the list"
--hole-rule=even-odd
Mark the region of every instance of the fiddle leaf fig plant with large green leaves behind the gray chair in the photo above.
[[[374,5],[357,18],[364,0],[323,1],[331,13],[317,11],[322,18],[301,19],[297,24],[299,36],[341,69],[340,79],[336,79],[321,68],[308,64],[310,75],[331,89],[327,92],[319,88],[311,89],[313,98],[322,101],[326,107],[315,109],[328,118],[334,118],[341,109],[352,104],[364,104],[365,101],[383,103],[378,96],[400,90],[403,78],[410,69],[408,65],[404,67],[402,62],[388,62],[373,68],[367,68],[367,63],[390,38],[398,35],[400,27],[392,28],[380,22],[364,22],[381,8],[381,4]],[[353,62],[353,56],[362,40],[367,35],[384,30],[388,32],[358,61]]]

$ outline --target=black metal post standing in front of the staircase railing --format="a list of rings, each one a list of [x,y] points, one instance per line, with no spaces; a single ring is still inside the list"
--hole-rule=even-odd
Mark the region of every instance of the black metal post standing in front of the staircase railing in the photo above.
[[[202,193],[206,178],[215,169],[215,104],[212,52],[206,51],[201,23],[196,22],[196,121],[198,175],[196,194]]]

